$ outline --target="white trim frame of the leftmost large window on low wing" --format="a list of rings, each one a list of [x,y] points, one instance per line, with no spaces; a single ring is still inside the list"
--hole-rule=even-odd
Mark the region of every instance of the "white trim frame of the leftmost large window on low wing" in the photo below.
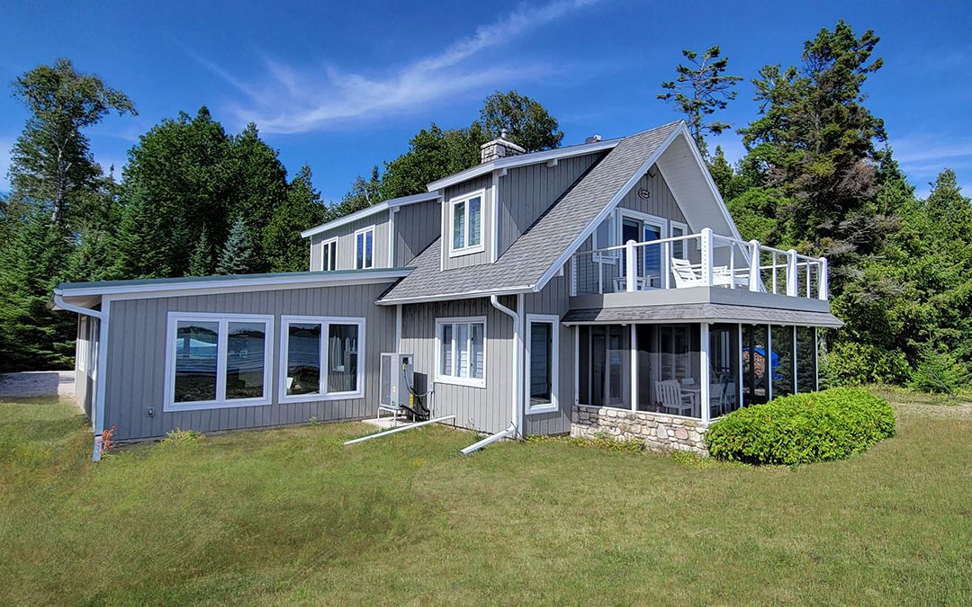
[[[219,322],[219,342],[216,356],[216,400],[175,402],[175,337],[180,320]],[[230,322],[263,323],[263,394],[259,398],[226,398],[226,348]],[[273,316],[254,314],[221,314],[207,312],[170,312],[165,327],[165,399],[162,411],[198,411],[202,409],[226,409],[230,407],[255,407],[271,402],[273,382]]]

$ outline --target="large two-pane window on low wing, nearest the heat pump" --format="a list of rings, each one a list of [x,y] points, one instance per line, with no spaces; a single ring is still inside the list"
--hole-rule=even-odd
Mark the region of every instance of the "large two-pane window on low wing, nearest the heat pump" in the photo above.
[[[364,396],[364,319],[286,316],[281,325],[281,402]]]

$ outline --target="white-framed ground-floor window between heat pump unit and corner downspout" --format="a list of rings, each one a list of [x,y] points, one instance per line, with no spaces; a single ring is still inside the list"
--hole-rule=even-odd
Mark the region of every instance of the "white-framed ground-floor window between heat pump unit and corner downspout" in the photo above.
[[[438,372],[435,381],[484,388],[486,386],[486,319],[435,321]]]

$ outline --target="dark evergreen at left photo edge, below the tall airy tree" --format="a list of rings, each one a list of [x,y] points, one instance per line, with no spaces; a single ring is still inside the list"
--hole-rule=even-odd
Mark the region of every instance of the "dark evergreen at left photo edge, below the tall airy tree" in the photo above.
[[[35,209],[0,253],[3,371],[71,367],[77,320],[49,305],[71,252],[70,237],[51,219],[48,209]]]

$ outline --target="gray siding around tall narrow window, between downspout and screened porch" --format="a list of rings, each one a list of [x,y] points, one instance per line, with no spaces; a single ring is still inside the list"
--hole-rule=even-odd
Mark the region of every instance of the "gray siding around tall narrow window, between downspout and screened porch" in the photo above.
[[[538,293],[524,295],[527,314],[550,314],[562,318],[571,307],[570,282],[567,276],[555,276]],[[571,431],[573,408],[573,333],[576,327],[559,326],[560,352],[558,367],[558,411],[524,417],[524,430],[530,434],[563,434]],[[529,336],[525,335],[524,339]],[[529,361],[524,360],[524,364]],[[529,405],[529,404],[528,404]],[[529,406],[528,406],[529,408]]]

